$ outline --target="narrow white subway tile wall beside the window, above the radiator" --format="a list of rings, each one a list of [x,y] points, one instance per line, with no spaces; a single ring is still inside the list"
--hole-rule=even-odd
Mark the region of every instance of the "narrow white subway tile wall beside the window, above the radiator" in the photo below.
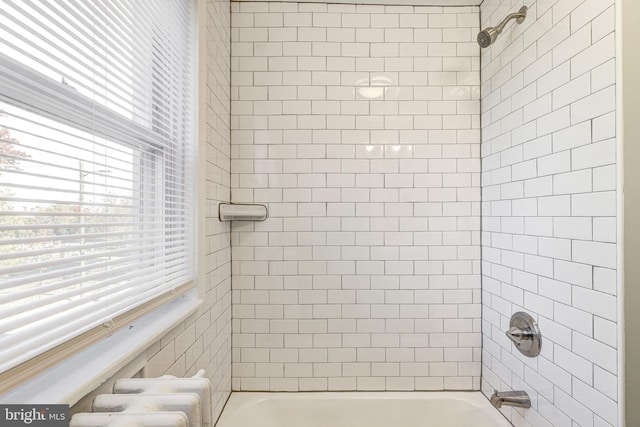
[[[155,344],[158,352],[146,375],[191,376],[206,369],[213,384],[214,417],[231,393],[231,227],[218,221],[218,204],[231,193],[230,134],[230,2],[206,3],[207,93],[206,134],[200,153],[207,159],[202,180],[206,192],[205,283],[203,307]]]

